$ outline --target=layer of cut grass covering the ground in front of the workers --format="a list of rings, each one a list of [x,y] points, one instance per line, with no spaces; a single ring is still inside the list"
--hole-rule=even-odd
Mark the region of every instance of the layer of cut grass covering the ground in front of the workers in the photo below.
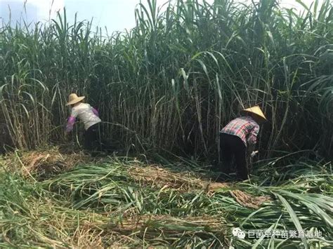
[[[49,162],[66,156],[56,148],[47,152]],[[37,177],[38,170],[30,171],[34,179],[24,170],[9,170],[14,159],[34,158],[30,163],[50,167],[37,163],[45,153],[17,152],[1,161],[1,247],[332,246],[328,163],[307,160],[300,168],[275,159],[276,174],[269,180],[272,164],[266,163],[254,168],[251,182],[238,183],[209,180],[216,174],[192,161],[183,160],[180,167],[180,162],[157,165],[120,156],[90,161],[72,154],[72,163],[48,178]],[[233,227],[313,231],[322,238],[240,239],[232,235]]]

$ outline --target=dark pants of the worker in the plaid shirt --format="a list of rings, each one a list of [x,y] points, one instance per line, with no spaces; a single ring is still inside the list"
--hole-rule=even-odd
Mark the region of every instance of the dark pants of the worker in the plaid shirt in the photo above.
[[[240,137],[225,133],[220,134],[221,159],[223,163],[223,173],[230,173],[230,166],[235,158],[237,166],[237,178],[246,180],[248,175],[247,169],[247,147]]]

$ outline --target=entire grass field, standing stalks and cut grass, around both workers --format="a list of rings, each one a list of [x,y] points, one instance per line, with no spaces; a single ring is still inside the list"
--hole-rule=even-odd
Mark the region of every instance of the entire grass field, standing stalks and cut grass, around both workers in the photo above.
[[[2,25],[0,247],[332,248],[333,4],[296,2],[146,0],[126,32],[65,9]],[[70,93],[124,155],[80,152],[81,123],[65,136]],[[216,182],[218,131],[253,105],[249,180]]]

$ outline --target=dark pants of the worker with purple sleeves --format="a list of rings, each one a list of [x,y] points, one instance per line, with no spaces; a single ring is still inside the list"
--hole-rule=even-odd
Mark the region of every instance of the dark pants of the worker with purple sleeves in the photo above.
[[[84,149],[90,152],[107,152],[114,148],[103,139],[102,123],[90,126],[84,133]]]

